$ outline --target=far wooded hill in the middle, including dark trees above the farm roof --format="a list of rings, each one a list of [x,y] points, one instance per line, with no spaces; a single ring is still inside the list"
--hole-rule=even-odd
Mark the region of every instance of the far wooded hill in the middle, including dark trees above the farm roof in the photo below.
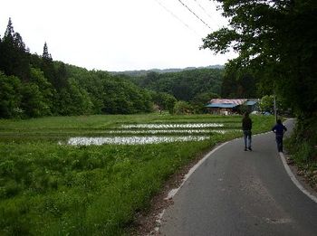
[[[133,71],[129,71],[129,73]],[[119,73],[120,74],[120,73]],[[223,68],[216,66],[209,68],[193,68],[182,71],[148,71],[138,76],[127,76],[121,73],[139,88],[150,90],[153,94],[154,102],[163,109],[168,109],[160,100],[164,101],[164,96],[172,95],[178,100],[175,104],[180,109],[186,109],[192,113],[203,113],[207,110],[205,105],[210,99],[215,98],[243,98],[255,99],[264,95],[257,89],[257,80],[250,74],[245,74],[239,78],[235,73],[227,74]],[[176,113],[179,112],[174,108]],[[182,113],[180,111],[180,113]]]

